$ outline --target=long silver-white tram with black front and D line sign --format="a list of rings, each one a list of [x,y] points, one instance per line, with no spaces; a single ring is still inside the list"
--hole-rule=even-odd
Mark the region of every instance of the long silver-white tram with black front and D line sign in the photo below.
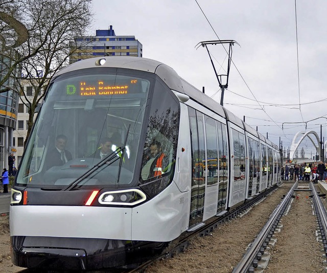
[[[78,61],[52,78],[20,162],[12,262],[128,267],[279,183],[280,170],[275,144],[168,65]]]

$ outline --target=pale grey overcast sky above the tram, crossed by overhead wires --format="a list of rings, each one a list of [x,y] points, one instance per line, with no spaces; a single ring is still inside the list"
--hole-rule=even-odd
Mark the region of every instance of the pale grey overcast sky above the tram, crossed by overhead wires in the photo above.
[[[286,149],[296,132],[306,130],[299,122],[324,116],[308,122],[307,131],[320,136],[321,124],[327,141],[325,0],[94,0],[93,11],[91,35],[112,25],[116,35],[135,36],[143,57],[168,64],[217,102],[221,90],[207,51],[195,47],[205,40],[237,41],[224,106],[263,135],[268,132],[276,145],[281,137]],[[222,45],[208,49],[225,74]],[[303,145],[310,156],[310,141]]]

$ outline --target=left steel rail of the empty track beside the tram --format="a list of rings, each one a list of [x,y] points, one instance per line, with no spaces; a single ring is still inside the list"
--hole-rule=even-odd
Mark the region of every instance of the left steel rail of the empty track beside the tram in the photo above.
[[[233,273],[241,272],[253,272],[254,266],[256,266],[258,258],[264,253],[265,248],[271,238],[279,220],[282,218],[282,214],[287,208],[287,205],[293,195],[294,190],[297,188],[298,182],[296,182],[289,192],[285,195],[281,203],[276,207],[274,212],[271,214],[269,220],[263,227],[262,231],[255,238],[248,251],[245,253],[239,264],[233,269]]]

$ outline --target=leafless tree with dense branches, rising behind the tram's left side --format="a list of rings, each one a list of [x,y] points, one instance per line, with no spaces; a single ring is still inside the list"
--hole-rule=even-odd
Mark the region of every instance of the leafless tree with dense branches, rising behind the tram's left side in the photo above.
[[[85,35],[93,14],[91,0],[25,0],[19,3],[24,10],[22,23],[28,30],[28,39],[16,48],[14,57],[20,60],[22,74],[33,87],[32,96],[27,96],[21,85],[18,87],[29,112],[28,138],[35,108],[43,99],[51,77],[67,65],[69,56],[78,50],[74,38]],[[20,56],[28,57],[21,60]],[[13,74],[10,77],[18,82],[21,80]]]

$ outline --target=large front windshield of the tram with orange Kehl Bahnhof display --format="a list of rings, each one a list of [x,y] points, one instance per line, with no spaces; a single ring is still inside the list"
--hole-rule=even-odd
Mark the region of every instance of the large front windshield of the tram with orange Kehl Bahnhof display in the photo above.
[[[137,153],[143,155],[138,147],[154,82],[147,73],[110,68],[69,72],[54,79],[16,184],[129,185]]]

